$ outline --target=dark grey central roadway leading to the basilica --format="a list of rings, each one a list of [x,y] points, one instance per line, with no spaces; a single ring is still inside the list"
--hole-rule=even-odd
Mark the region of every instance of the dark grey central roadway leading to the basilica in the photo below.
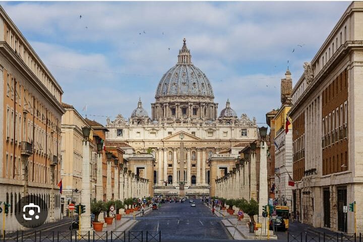
[[[208,241],[231,239],[221,223],[221,218],[213,216],[200,200],[191,207],[185,203],[163,203],[158,210],[151,211],[132,231],[161,231],[162,241]]]

